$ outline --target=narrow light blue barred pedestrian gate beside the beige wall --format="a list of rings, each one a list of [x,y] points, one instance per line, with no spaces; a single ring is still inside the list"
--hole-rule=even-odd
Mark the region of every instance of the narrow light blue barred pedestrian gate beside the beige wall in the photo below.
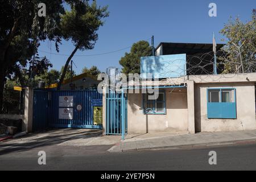
[[[127,94],[106,93],[106,134],[127,134]]]

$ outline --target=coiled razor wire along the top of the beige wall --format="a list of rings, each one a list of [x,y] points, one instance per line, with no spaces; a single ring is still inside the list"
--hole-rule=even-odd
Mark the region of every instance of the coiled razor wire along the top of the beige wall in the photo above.
[[[216,52],[217,75],[214,79],[218,80],[223,77],[234,77],[237,74],[246,75],[247,73],[256,72],[255,51],[250,52],[241,49],[241,47],[242,46],[236,46],[237,50],[233,50],[232,53],[225,51],[225,49],[220,49]],[[187,55],[185,60],[186,65],[180,64],[182,61],[184,62],[184,60],[181,59],[163,60],[159,61],[156,65],[148,65],[148,67],[151,67],[150,69],[152,71],[156,71],[160,75],[170,75],[170,73],[173,73],[173,75],[176,75],[177,77],[185,75],[201,75],[199,79],[202,81],[207,81],[209,76],[212,77],[212,75],[214,75],[215,64],[214,52],[212,51]],[[129,66],[131,70],[135,70],[139,69],[141,64],[127,63],[127,66]],[[174,80],[172,77],[167,78],[171,82]]]

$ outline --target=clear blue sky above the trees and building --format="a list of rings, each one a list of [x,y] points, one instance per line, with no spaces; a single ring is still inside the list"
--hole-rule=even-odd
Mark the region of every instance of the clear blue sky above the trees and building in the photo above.
[[[209,3],[217,5],[217,17],[209,17]],[[95,55],[117,51],[130,47],[139,40],[150,42],[155,37],[155,47],[160,42],[212,43],[212,33],[216,32],[216,42],[223,38],[219,31],[228,22],[230,16],[246,22],[250,20],[256,1],[171,1],[171,0],[98,0],[98,5],[109,6],[110,15],[98,31],[98,40],[92,50],[77,51],[76,55]],[[63,41],[59,54],[69,55],[75,47],[71,42]],[[46,51],[51,53],[45,53]],[[96,65],[102,72],[108,67],[121,68],[119,59],[129,52],[130,48],[122,51],[97,56],[74,56],[76,74],[83,67]],[[48,40],[39,47],[39,55],[47,56],[54,69],[60,70],[68,56],[54,55],[55,46]]]

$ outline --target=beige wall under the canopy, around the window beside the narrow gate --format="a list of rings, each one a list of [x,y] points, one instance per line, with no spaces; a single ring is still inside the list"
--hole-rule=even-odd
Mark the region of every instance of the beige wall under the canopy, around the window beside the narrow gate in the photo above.
[[[188,130],[187,89],[166,89],[166,114],[143,114],[142,93],[129,93],[127,104],[128,133]],[[179,91],[180,90],[180,91]],[[171,92],[172,93],[169,93]]]

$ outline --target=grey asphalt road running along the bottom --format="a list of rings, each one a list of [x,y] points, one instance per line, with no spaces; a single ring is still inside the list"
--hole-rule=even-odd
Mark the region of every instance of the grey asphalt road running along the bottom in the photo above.
[[[106,152],[111,146],[44,146],[8,151],[0,155],[0,170],[256,170],[256,144]],[[46,152],[46,165],[38,164],[38,151]],[[209,151],[217,164],[210,165]]]

